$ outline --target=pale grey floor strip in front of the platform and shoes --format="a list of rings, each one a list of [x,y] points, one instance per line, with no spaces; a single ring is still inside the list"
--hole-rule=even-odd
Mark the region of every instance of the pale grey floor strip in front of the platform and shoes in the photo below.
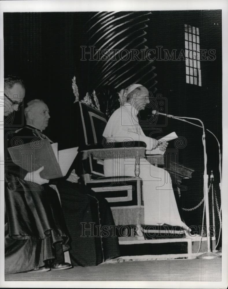
[[[5,275],[5,281],[221,281],[222,258],[155,260]]]

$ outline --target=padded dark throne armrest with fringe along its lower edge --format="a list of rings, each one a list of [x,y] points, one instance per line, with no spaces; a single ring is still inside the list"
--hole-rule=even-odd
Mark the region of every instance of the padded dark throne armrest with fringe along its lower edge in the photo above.
[[[107,160],[113,157],[113,153],[123,153],[125,158],[145,158],[145,142],[128,141],[128,142],[109,142],[105,144],[88,145],[82,152],[82,160],[86,160],[91,155],[94,159]]]

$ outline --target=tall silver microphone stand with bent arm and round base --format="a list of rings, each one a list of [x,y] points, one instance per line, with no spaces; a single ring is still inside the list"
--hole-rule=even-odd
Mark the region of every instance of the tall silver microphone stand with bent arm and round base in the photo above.
[[[180,120],[180,121],[184,121],[184,122],[190,123],[192,125],[195,125],[195,126],[203,128],[203,135],[202,135],[203,155],[204,155],[203,193],[204,193],[205,213],[206,213],[207,252],[203,253],[198,258],[213,259],[213,258],[216,258],[216,257],[220,257],[218,254],[216,254],[216,253],[211,251],[211,244],[210,244],[210,218],[209,218],[209,199],[208,199],[207,153],[206,153],[206,140],[205,140],[204,124],[199,118],[173,116],[171,114],[166,114],[166,116],[168,116],[170,118],[174,118],[174,119]],[[202,126],[197,125],[195,123],[191,123],[190,121],[186,121],[186,119],[197,120],[197,121],[199,121],[201,123]],[[220,146],[219,146],[219,149],[220,149]],[[220,179],[220,182],[221,182],[221,179]]]

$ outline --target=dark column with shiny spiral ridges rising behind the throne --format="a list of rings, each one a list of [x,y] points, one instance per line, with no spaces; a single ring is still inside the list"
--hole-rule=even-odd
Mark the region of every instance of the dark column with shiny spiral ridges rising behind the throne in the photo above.
[[[141,83],[156,92],[154,61],[147,45],[151,12],[94,12],[85,28],[86,51],[91,51],[90,88],[109,118],[120,106],[117,92]],[[84,52],[82,51],[82,54]],[[87,59],[87,55],[85,55]]]

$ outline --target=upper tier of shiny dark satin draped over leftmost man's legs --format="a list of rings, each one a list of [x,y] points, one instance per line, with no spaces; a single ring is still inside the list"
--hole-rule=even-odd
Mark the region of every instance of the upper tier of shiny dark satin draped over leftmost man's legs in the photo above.
[[[64,218],[58,195],[48,185],[39,190],[35,184],[8,181],[5,202],[7,208],[9,236],[13,239],[30,237],[45,239],[51,237],[53,243],[66,243]],[[14,189],[16,187],[16,189]]]

